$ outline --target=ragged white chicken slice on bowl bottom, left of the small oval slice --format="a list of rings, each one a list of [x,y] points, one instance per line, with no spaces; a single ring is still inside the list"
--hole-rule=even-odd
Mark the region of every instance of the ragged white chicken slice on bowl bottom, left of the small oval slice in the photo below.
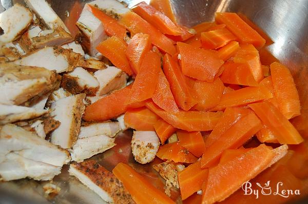
[[[69,152],[72,161],[83,161],[93,155],[105,152],[114,146],[114,138],[110,138],[106,135],[95,135],[78,138]]]

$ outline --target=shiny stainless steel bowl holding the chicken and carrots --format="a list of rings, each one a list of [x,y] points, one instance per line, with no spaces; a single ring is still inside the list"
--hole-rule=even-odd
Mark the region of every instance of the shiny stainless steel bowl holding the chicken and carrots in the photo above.
[[[0,11],[23,1],[1,0]],[[55,12],[73,28],[87,0],[48,0]],[[124,1],[129,7],[140,0]],[[149,1],[146,1],[149,2]],[[308,138],[308,1],[307,0],[171,0],[179,23],[194,26],[204,21],[213,21],[215,12],[240,12],[262,28],[275,42],[266,49],[284,65],[290,68],[300,95],[302,116],[293,120],[301,135]],[[112,150],[94,156],[108,170],[119,161],[130,162],[141,173],[154,175],[149,165],[133,162],[130,151],[131,132],[121,133]],[[111,155],[122,153],[118,160]],[[125,154],[126,153],[126,154]],[[120,155],[120,154],[119,154]],[[102,203],[98,195],[83,186],[78,180],[69,177],[67,166],[56,176],[54,183],[61,187],[58,196],[44,197],[42,186],[46,182],[22,179],[0,183],[0,203]],[[156,177],[157,179],[157,177]],[[155,179],[154,179],[155,180]],[[177,195],[175,195],[177,196]],[[307,203],[308,199],[301,201]]]

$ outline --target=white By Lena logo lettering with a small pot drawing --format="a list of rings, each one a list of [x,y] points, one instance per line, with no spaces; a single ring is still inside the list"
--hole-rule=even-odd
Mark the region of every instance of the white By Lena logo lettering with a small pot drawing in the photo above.
[[[253,185],[251,182],[246,181],[242,184],[242,189],[244,191],[244,195],[255,195],[256,199],[259,198],[259,195],[277,195],[277,196],[281,196],[281,197],[289,197],[290,195],[300,195],[300,192],[298,189],[296,190],[285,190],[285,189],[281,189],[283,188],[283,183],[282,182],[278,182],[276,183],[276,189],[272,190],[272,187],[270,186],[270,182],[271,181],[267,181],[266,183],[264,183],[264,185],[262,186],[260,183],[256,183],[257,185],[257,189],[253,189]]]

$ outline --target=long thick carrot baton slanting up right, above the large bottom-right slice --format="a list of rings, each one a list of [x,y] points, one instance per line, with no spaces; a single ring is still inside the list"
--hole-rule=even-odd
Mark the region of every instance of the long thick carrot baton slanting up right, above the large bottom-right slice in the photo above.
[[[225,149],[236,149],[242,146],[261,128],[261,121],[254,113],[243,116],[205,149],[201,158],[201,167],[210,167],[219,159]]]

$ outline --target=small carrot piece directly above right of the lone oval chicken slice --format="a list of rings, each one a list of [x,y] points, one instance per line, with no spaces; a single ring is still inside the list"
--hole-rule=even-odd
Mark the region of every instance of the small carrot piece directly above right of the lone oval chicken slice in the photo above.
[[[161,141],[161,144],[164,144],[165,141],[177,131],[176,128],[168,124],[163,119],[158,119],[156,123],[154,124],[155,131]]]

